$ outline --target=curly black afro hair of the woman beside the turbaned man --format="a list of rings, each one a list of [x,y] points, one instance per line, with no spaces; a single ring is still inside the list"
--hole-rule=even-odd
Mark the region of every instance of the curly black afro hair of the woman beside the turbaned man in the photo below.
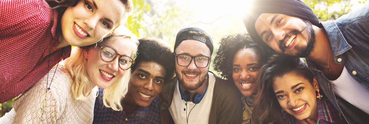
[[[223,37],[219,44],[217,55],[214,58],[214,70],[218,71],[223,79],[232,83],[232,64],[236,52],[243,48],[251,48],[261,55],[262,64],[265,63],[270,55],[274,54],[273,51],[263,49],[252,41],[249,34],[232,34]]]

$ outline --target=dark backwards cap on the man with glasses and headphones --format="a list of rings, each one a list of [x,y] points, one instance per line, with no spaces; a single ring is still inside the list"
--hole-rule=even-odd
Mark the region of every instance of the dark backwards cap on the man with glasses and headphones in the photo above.
[[[189,34],[189,31],[204,33],[206,37]],[[197,40],[197,41],[205,43],[207,47],[209,47],[210,49],[210,55],[213,54],[213,49],[214,49],[213,40],[211,40],[211,37],[209,34],[207,34],[204,30],[197,28],[197,27],[189,27],[189,28],[183,28],[179,30],[179,32],[177,33],[176,42],[174,43],[174,51],[176,51],[176,48],[183,40],[188,40],[188,39]]]

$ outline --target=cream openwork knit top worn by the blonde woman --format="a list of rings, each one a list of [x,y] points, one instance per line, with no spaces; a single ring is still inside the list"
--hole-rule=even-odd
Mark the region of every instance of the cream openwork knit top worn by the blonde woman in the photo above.
[[[49,72],[49,84],[55,68]],[[10,112],[0,118],[0,124],[36,124],[39,122],[42,99],[45,97],[47,75],[14,100]],[[86,124],[93,121],[97,87],[85,101],[73,98],[70,86],[72,78],[63,67],[58,67],[47,94],[47,106],[42,123]]]

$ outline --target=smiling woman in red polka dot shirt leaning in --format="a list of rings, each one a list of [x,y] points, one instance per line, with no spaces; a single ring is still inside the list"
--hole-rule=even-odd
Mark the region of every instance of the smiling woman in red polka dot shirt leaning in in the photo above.
[[[71,45],[111,35],[132,10],[131,0],[58,1],[0,0],[0,103],[68,58]]]

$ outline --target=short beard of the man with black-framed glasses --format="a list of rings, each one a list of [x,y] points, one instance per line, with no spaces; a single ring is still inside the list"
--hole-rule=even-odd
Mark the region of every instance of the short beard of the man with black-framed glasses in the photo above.
[[[179,81],[179,83],[181,84],[181,86],[187,90],[197,90],[199,87],[201,87],[201,85],[203,85],[204,81],[206,80],[206,76],[207,74],[204,74],[203,76],[201,76],[201,73],[200,72],[194,72],[194,71],[182,71],[182,74],[184,73],[194,73],[194,74],[199,74],[199,80],[197,81],[196,84],[194,85],[191,85],[191,84],[188,84],[186,82],[184,82],[184,77],[180,74],[177,73],[177,71],[175,72],[176,73],[176,76],[177,76],[177,79]]]

